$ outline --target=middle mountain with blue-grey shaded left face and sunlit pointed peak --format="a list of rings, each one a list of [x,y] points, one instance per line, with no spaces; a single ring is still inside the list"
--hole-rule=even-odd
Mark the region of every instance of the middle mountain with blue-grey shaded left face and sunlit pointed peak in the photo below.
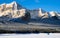
[[[30,10],[31,18],[48,18],[48,12],[42,8]]]

